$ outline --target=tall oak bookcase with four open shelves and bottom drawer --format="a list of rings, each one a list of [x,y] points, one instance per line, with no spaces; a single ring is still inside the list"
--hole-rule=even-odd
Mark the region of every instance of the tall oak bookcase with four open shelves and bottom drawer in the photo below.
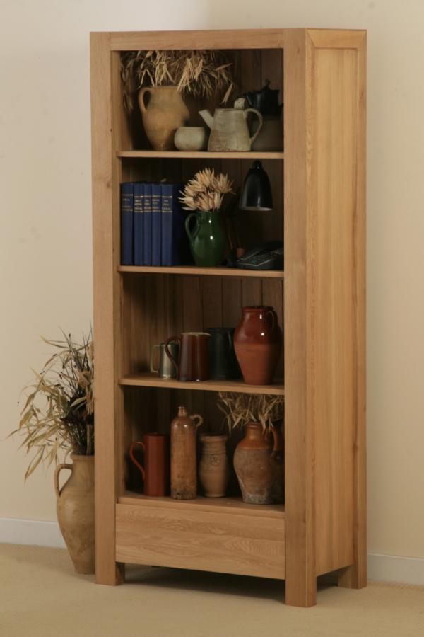
[[[124,112],[121,52],[221,49],[240,94],[271,80],[284,103],[278,153],[155,152],[138,108]],[[316,603],[317,575],[367,583],[365,493],[365,86],[363,30],[204,30],[91,34],[95,335],[96,580],[124,563],[285,579],[287,604]],[[205,103],[186,100],[191,125]],[[261,158],[273,212],[239,215],[245,248],[281,238],[284,272],[119,265],[119,184],[187,180],[206,166],[239,185]],[[179,383],[148,372],[154,343],[236,326],[272,305],[284,347],[272,386]],[[169,431],[179,404],[219,430],[216,391],[285,394],[285,505],[144,498],[132,440]],[[192,413],[192,412],[190,412]],[[231,455],[241,433],[232,435]]]

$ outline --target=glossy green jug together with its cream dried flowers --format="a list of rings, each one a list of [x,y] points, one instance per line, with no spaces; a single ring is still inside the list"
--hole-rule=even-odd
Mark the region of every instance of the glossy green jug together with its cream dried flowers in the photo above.
[[[185,221],[190,249],[196,265],[213,267],[220,264],[225,249],[226,236],[220,226],[220,207],[225,193],[231,193],[232,181],[228,175],[216,175],[205,168],[196,173],[182,190],[179,201],[184,210],[193,210]],[[189,222],[196,219],[194,229]]]

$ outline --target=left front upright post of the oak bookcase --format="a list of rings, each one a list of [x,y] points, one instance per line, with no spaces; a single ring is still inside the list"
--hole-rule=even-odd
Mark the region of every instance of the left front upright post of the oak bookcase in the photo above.
[[[116,60],[115,60],[116,62]],[[96,582],[122,583],[124,566],[115,562],[115,504],[122,489],[122,390],[120,372],[119,165],[112,141],[112,57],[109,33],[91,34],[93,164],[93,288],[95,339],[95,547]],[[118,215],[118,216],[117,216]]]

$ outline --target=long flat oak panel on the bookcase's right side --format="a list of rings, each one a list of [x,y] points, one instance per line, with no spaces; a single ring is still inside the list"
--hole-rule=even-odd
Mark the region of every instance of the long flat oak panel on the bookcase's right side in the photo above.
[[[353,564],[358,50],[314,48],[310,258],[317,575]]]

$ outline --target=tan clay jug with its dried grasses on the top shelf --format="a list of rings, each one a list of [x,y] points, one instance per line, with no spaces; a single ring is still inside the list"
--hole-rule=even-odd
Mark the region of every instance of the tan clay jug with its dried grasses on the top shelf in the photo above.
[[[175,132],[189,122],[182,96],[191,93],[194,98],[225,103],[235,88],[229,67],[221,51],[130,51],[121,58],[124,106],[130,113],[134,85],[141,88],[139,106],[149,142],[154,150],[175,149]],[[146,93],[150,93],[147,106]]]

